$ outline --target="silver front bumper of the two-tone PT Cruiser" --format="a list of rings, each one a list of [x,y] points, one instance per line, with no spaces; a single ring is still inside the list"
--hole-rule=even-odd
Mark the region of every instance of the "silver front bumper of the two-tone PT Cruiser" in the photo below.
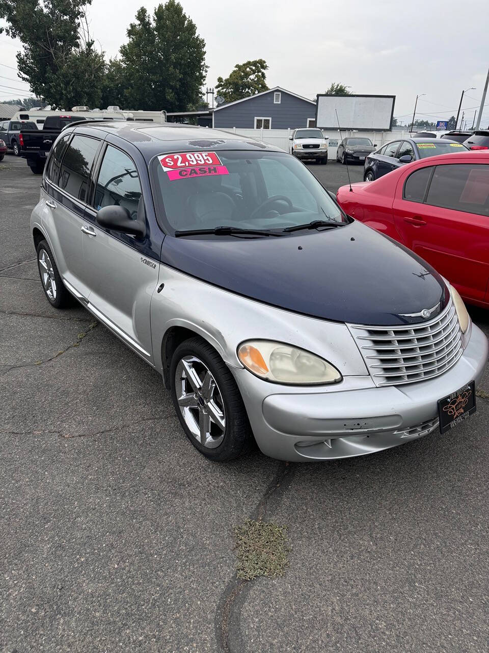
[[[370,376],[345,377],[327,389],[276,386],[231,368],[261,451],[295,462],[375,453],[420,438],[437,428],[437,401],[475,379],[489,354],[472,325],[462,357],[447,372],[418,383],[375,387]]]

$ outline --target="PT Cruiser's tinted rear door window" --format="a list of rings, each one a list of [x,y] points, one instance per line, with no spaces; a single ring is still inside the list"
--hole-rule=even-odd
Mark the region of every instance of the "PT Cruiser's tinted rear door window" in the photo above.
[[[73,136],[63,157],[59,187],[85,202],[90,170],[100,141],[88,136]]]

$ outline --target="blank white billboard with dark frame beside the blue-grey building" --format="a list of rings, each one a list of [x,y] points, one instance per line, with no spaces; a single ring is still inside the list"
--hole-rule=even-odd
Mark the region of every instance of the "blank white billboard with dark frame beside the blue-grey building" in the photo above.
[[[395,95],[318,95],[316,127],[390,131]],[[336,119],[336,111],[338,119]]]

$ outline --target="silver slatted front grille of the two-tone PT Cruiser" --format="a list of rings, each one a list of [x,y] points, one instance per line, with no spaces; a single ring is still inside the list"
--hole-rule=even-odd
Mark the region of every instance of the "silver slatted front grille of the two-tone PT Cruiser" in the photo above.
[[[349,325],[376,385],[400,385],[443,374],[462,355],[462,332],[450,302],[435,319],[402,327]]]

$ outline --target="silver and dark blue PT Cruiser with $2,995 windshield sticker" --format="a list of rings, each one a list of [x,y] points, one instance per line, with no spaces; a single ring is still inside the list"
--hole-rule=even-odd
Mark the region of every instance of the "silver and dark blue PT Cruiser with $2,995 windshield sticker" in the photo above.
[[[475,411],[488,341],[456,290],[295,157],[185,125],[65,129],[31,217],[44,292],[157,370],[186,436],[306,461]]]

